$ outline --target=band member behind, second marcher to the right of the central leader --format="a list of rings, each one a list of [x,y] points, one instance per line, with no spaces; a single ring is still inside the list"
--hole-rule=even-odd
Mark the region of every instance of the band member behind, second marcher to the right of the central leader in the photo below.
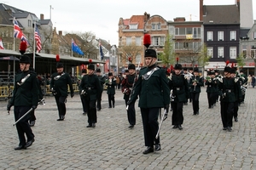
[[[199,115],[199,96],[201,93],[201,86],[204,85],[202,77],[199,77],[198,67],[194,69],[194,76],[189,80],[190,94],[193,105],[193,115]]]

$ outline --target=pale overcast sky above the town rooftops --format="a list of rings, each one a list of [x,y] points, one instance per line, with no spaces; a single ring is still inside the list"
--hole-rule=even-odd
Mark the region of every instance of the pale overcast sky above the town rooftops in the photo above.
[[[241,0],[243,1],[243,0]],[[253,19],[256,20],[256,1],[253,1]],[[42,3],[38,3],[42,2]],[[235,4],[236,0],[204,0],[205,5]],[[165,20],[185,17],[186,20],[199,20],[199,0],[4,0],[15,8],[51,18],[57,31],[65,34],[90,31],[97,38],[118,45],[119,18],[130,19],[132,15],[151,16],[159,14]],[[50,10],[50,6],[52,9]]]

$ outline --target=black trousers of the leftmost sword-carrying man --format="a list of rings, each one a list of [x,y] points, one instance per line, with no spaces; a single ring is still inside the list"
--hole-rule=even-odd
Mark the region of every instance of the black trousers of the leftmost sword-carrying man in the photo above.
[[[15,106],[15,122],[20,119],[21,116],[23,116],[26,111],[29,111],[31,107],[29,106]],[[26,139],[27,141],[32,140],[35,136],[32,133],[32,129],[28,124],[28,119],[29,119],[30,114],[26,115],[23,117],[20,122],[17,122],[16,124],[16,129],[18,132],[18,136],[20,139],[20,144],[19,145],[25,145],[26,144]],[[25,138],[26,134],[26,138]]]

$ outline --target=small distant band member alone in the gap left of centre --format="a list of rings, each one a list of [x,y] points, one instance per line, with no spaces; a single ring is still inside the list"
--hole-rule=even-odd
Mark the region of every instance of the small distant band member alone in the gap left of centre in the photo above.
[[[114,108],[114,94],[115,94],[115,86],[116,80],[113,77],[112,72],[108,72],[108,79],[106,80],[107,85],[107,94],[108,94],[108,108]]]

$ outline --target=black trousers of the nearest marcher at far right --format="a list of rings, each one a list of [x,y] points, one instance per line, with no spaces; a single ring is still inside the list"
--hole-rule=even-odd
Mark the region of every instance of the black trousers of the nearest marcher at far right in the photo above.
[[[234,103],[220,102],[220,114],[223,127],[233,126]]]

